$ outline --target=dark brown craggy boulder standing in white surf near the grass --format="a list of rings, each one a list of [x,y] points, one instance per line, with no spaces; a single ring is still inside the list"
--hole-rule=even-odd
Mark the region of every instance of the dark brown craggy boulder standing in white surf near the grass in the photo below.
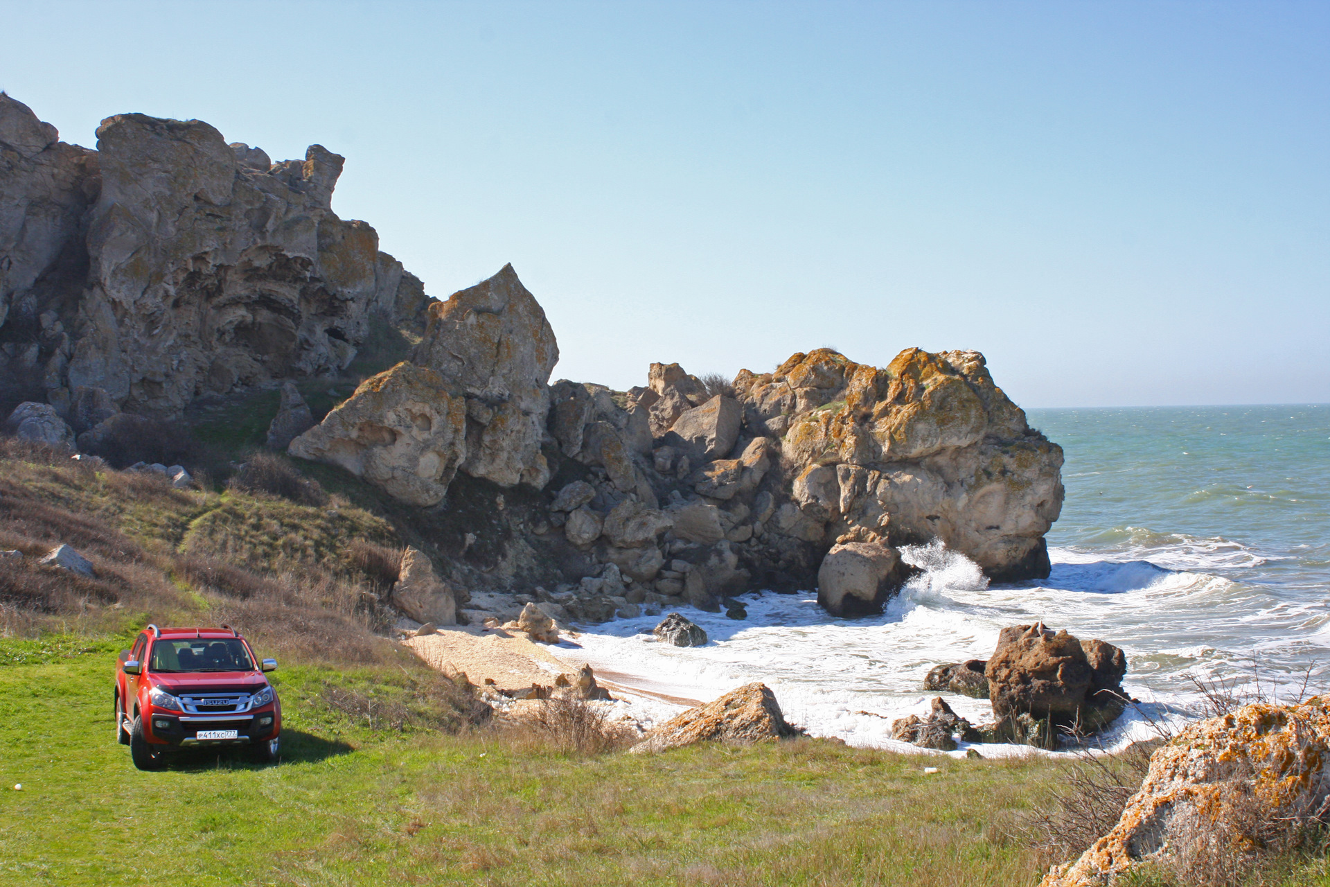
[[[1125,672],[1125,657],[1112,644],[1081,642],[1065,629],[1052,632],[1040,622],[1004,628],[984,677],[999,719],[1029,714],[1057,727],[1092,733],[1123,713]]]

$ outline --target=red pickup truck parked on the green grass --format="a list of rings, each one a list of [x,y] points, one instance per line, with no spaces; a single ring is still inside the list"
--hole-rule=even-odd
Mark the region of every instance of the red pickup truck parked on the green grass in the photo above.
[[[116,666],[116,738],[140,770],[172,749],[246,746],[255,763],[277,759],[282,703],[263,660],[235,629],[144,629]]]

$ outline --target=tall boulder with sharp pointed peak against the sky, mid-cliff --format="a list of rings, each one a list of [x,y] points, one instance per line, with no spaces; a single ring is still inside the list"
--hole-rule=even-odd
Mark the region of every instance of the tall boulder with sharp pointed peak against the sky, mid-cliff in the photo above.
[[[411,360],[476,404],[467,411],[463,471],[503,487],[548,481],[540,442],[559,346],[544,310],[511,265],[431,305]]]

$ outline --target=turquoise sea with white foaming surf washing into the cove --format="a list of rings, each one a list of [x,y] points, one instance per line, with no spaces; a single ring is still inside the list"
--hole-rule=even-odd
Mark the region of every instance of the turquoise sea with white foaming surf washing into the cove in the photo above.
[[[657,644],[660,617],[642,616],[559,653],[674,697],[657,717],[762,681],[810,734],[898,750],[912,746],[891,738],[891,721],[938,696],[922,689],[928,669],[988,658],[1001,628],[1036,621],[1127,653],[1138,705],[1099,738],[1108,750],[1197,717],[1197,680],[1267,698],[1330,692],[1330,404],[1028,418],[1067,456],[1048,578],[988,582],[935,543],[904,552],[922,572],[876,617],[831,618],[811,589],[763,592],[745,598],[745,620],[684,610],[710,636],[702,648]],[[943,696],[975,723],[992,719],[986,699]]]

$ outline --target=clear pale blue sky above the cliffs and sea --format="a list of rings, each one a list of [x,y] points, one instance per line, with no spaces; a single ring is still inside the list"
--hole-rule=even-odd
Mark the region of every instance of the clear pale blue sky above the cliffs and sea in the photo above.
[[[1326,3],[0,3],[0,88],[274,160],[555,375],[978,348],[1019,403],[1330,400]]]

